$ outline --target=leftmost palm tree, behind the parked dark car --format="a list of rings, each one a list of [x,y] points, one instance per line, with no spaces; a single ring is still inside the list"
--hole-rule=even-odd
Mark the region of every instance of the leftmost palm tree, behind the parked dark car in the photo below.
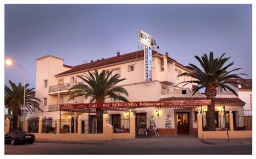
[[[24,101],[24,86],[22,86],[22,83],[19,83],[18,86],[15,85],[15,83],[12,83],[12,81],[9,80],[9,84],[11,88],[7,87],[5,85],[5,105],[9,108],[9,110],[12,111],[13,116],[13,129],[17,130],[17,124],[18,124],[18,114],[23,107],[23,101]],[[32,114],[33,108],[36,108],[40,111],[42,111],[39,108],[40,99],[36,98],[32,95],[33,90],[35,88],[28,88],[29,84],[26,84],[26,99],[25,99],[25,107],[29,110],[29,112]]]

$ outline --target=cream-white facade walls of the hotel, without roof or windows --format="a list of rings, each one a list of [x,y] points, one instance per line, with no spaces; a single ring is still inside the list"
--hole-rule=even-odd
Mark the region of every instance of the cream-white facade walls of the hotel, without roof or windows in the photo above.
[[[164,70],[161,71],[161,63],[164,64]],[[129,72],[128,66],[134,65],[134,71]],[[175,76],[176,71],[180,70],[180,73],[187,72],[187,69],[179,64],[170,61],[165,56],[153,57],[153,68],[152,68],[152,82],[145,82],[144,81],[144,60],[137,59],[129,62],[123,62],[120,64],[116,64],[114,66],[105,66],[103,68],[98,68],[98,72],[104,70],[113,70],[119,68],[120,69],[120,76],[121,78],[126,78],[126,80],[120,82],[118,86],[125,88],[129,92],[129,96],[127,99],[129,101],[157,101],[163,97],[171,97],[171,96],[180,96],[180,97],[191,97],[192,93],[190,90],[191,84],[186,85],[185,88],[180,89],[183,85],[179,85],[178,87],[174,87],[178,83],[183,82],[184,80],[191,80],[190,78],[181,76],[179,79]],[[64,84],[70,83],[71,77],[75,77],[75,81],[82,82],[77,75],[83,75],[84,71],[75,72],[68,75],[58,76],[63,71],[69,70],[71,68],[63,67],[63,60],[47,57],[44,59],[37,60],[37,68],[36,68],[36,97],[41,99],[47,97],[48,103],[46,106],[42,106],[42,102],[40,103],[40,108],[44,112],[36,112],[36,116],[41,117],[52,117],[56,119],[59,116],[59,111],[48,112],[49,105],[57,104],[58,103],[58,94],[59,96],[63,96],[63,103],[89,103],[90,98],[85,99],[84,97],[78,97],[77,99],[68,101],[69,93],[68,90],[56,91],[56,92],[49,92],[49,86],[57,85],[58,80],[63,79]],[[91,73],[94,72],[94,69],[90,70]],[[87,74],[87,71],[85,72]],[[48,80],[48,87],[43,88],[43,81]],[[165,95],[162,94],[162,87],[165,87],[168,91],[165,92]],[[181,94],[181,90],[186,90],[187,94]],[[204,97],[202,94],[195,94],[195,97]],[[217,97],[236,97],[230,96],[230,94],[221,93]],[[111,99],[106,99],[105,102],[113,102]],[[207,107],[207,106],[206,106]],[[216,109],[222,108],[223,105],[217,105]],[[199,109],[193,109],[193,112],[198,111]],[[227,106],[227,111],[239,111],[243,110],[243,107],[231,107]],[[156,116],[156,111],[159,112],[159,116]],[[167,115],[170,115],[171,118],[171,128],[175,128],[175,118],[176,116],[174,113],[174,109],[158,109],[155,107],[149,108],[136,108],[136,113],[146,113],[147,117],[153,115],[155,119],[155,123],[158,128],[165,128],[165,120]],[[108,114],[104,114],[105,117],[109,118],[111,114],[121,114],[121,118],[125,117],[125,112],[118,112],[118,111],[108,111]],[[77,113],[77,116],[81,115],[81,118],[88,118],[88,113]],[[91,115],[95,115],[92,114]],[[135,115],[132,113],[132,115]],[[74,116],[72,112],[63,112],[61,115],[62,119],[67,119],[69,116]],[[190,116],[194,116],[195,114],[190,114]],[[193,128],[197,128],[197,121],[193,121]]]

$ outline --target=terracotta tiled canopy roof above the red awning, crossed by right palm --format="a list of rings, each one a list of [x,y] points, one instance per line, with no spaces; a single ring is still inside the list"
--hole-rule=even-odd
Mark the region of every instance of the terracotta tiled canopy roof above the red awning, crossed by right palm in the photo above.
[[[168,98],[160,98],[159,101],[164,100],[202,100],[207,99],[206,97],[168,97]],[[215,104],[246,104],[243,100],[240,98],[215,98],[214,99]]]

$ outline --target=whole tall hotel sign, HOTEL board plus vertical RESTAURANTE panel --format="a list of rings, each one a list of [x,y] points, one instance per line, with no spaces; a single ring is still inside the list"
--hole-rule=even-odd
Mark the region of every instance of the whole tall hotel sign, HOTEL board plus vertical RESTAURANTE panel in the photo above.
[[[139,31],[139,42],[145,45],[144,48],[144,79],[152,81],[152,49],[156,49],[157,44],[153,36]]]

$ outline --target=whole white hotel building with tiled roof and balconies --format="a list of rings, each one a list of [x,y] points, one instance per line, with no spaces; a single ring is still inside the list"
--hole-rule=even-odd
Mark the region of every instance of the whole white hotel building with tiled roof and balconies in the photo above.
[[[77,97],[68,101],[69,89],[82,81],[76,75],[83,75],[87,71],[94,72],[95,69],[113,70],[113,74],[119,73],[121,78],[126,80],[118,85],[129,92],[129,101],[158,101],[158,100],[183,100],[202,99],[203,94],[192,96],[192,85],[187,88],[174,87],[176,84],[190,80],[190,77],[177,77],[182,72],[190,70],[168,57],[153,51],[152,82],[144,81],[144,51],[135,51],[129,54],[91,61],[90,63],[68,66],[63,64],[63,59],[54,56],[45,56],[36,59],[36,97],[41,99],[40,108],[44,112],[35,111],[35,116],[42,118],[57,119],[60,115],[59,104],[63,103],[89,103],[90,99]],[[105,102],[113,102],[106,99]],[[216,113],[221,114],[223,105],[227,111],[233,114],[243,114],[244,102],[232,95],[230,92],[222,92],[215,100]],[[197,118],[199,110],[207,111],[207,105],[201,108],[136,108],[132,115],[136,117],[148,117],[154,121],[159,128],[160,135],[196,134]],[[156,115],[156,111],[159,115]],[[125,111],[107,111],[104,115],[107,118],[126,117]],[[81,115],[81,118],[88,118],[88,113],[63,112],[61,119],[74,118]],[[90,115],[95,115],[91,113]],[[187,123],[186,130],[178,131],[178,123]],[[218,121],[217,121],[218,122]]]

